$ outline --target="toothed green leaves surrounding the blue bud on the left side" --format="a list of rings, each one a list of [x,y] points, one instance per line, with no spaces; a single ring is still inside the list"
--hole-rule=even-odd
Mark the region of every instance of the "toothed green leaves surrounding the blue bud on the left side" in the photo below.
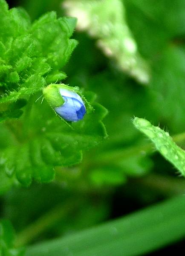
[[[9,139],[0,154],[1,191],[4,192],[16,180],[25,186],[32,178],[49,182],[55,177],[55,166],[80,163],[82,150],[97,145],[107,136],[101,122],[107,112],[101,105],[95,105],[95,113],[72,125],[75,131],[71,131],[46,102],[40,105],[41,100],[36,101],[37,93],[47,82],[55,83],[66,77],[61,68],[77,44],[69,39],[75,28],[75,18],[57,19],[55,12],[49,12],[31,25],[23,9],[8,10],[3,0],[0,1],[0,15],[1,122],[19,118],[23,113],[20,108],[26,105],[25,99],[28,100],[24,115],[6,123],[14,138]],[[92,108],[88,104],[87,109]]]

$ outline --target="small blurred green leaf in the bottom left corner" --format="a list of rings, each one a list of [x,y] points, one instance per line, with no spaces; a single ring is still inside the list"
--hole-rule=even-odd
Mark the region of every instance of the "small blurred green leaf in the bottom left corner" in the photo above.
[[[0,221],[0,255],[23,256],[23,249],[14,248],[14,230],[7,220]]]

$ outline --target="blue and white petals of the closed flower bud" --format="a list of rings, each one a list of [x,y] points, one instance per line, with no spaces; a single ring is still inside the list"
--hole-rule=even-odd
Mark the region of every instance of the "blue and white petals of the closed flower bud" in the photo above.
[[[60,88],[59,92],[65,102],[60,107],[54,108],[56,113],[66,121],[77,122],[81,120],[86,113],[86,108],[78,93],[63,88]]]

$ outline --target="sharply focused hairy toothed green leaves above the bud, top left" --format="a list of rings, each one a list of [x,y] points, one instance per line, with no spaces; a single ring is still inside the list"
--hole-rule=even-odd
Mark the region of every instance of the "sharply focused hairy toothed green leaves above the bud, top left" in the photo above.
[[[61,68],[77,45],[69,39],[75,24],[75,18],[57,19],[55,12],[31,24],[26,11],[8,10],[6,2],[0,1],[0,108],[2,104],[8,108],[20,98],[29,99],[48,81],[60,82],[66,77]],[[9,118],[14,116],[18,114],[9,114]],[[6,120],[3,113],[1,120]]]

